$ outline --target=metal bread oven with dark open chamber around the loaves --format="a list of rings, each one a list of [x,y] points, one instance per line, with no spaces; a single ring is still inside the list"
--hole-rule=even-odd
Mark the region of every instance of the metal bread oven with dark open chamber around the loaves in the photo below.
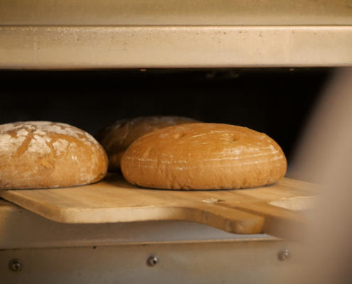
[[[296,213],[311,219],[315,188],[299,181],[311,180],[294,153],[336,67],[352,64],[346,6],[0,3],[1,124],[58,121],[95,134],[119,119],[177,115],[247,126],[282,146],[286,177],[305,190],[299,199],[262,197],[279,211],[262,213],[267,225],[252,234],[235,234],[204,214],[58,222],[2,190],[0,282],[297,283],[304,246],[292,230],[302,228]],[[280,209],[293,212],[294,229]]]

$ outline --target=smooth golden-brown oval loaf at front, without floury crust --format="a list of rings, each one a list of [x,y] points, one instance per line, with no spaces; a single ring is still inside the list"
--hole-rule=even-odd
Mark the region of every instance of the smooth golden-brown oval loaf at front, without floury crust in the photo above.
[[[282,149],[264,133],[227,124],[185,124],[146,134],[122,157],[122,174],[143,187],[223,190],[284,177]]]

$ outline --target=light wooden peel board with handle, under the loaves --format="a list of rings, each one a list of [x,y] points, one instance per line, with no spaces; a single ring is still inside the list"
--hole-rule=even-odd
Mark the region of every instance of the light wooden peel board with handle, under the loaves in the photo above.
[[[317,194],[315,185],[288,178],[245,190],[181,191],[137,187],[112,173],[93,185],[0,190],[4,199],[56,222],[184,220],[235,234],[285,239],[308,224],[299,210],[310,209]]]

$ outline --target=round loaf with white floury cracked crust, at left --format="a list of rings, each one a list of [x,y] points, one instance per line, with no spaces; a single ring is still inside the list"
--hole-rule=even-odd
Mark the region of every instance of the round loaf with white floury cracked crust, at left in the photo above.
[[[68,124],[0,125],[0,187],[68,187],[101,180],[107,155],[90,134]]]

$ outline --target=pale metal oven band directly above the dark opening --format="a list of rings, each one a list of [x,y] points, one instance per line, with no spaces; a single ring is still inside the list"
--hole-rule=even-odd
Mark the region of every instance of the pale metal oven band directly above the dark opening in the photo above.
[[[352,26],[1,26],[1,69],[352,65]]]

